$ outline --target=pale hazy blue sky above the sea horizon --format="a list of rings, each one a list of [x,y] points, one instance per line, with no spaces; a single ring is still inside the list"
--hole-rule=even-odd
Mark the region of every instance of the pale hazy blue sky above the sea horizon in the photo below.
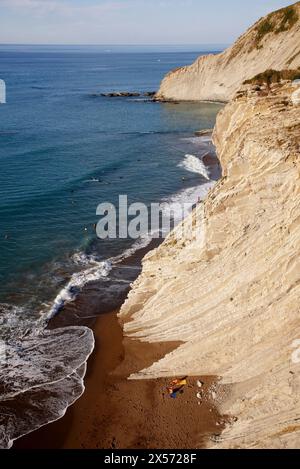
[[[230,44],[291,0],[0,0],[1,44]]]

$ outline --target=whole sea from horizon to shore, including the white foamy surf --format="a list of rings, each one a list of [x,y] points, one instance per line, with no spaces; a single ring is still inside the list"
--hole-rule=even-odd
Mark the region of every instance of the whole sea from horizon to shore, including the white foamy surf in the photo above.
[[[221,103],[157,103],[171,69],[222,46],[0,45],[0,447],[84,392],[90,322],[120,306],[153,242],[99,239],[97,206],[188,202],[220,176]],[[127,91],[138,97],[101,94]],[[51,326],[52,324],[52,326]]]

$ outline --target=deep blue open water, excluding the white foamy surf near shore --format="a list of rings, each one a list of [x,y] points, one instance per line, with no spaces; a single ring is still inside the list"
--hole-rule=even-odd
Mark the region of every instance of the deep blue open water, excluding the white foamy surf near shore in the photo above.
[[[51,300],[70,266],[57,285],[49,272],[78,250],[119,254],[126,241],[96,239],[99,203],[116,203],[119,194],[160,201],[182,189],[183,175],[186,186],[198,183],[198,175],[177,167],[188,152],[182,139],[211,127],[219,105],[93,94],[154,91],[165,73],[200,53],[0,46],[7,86],[0,106],[0,302]],[[92,178],[101,182],[87,182]]]

